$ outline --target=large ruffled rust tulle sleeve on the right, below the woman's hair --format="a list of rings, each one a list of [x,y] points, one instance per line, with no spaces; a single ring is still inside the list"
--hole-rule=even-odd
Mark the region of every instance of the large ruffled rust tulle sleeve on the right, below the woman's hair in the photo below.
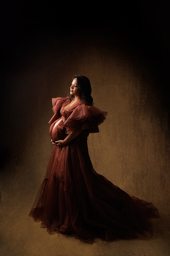
[[[88,130],[90,133],[99,132],[98,125],[103,123],[107,114],[98,108],[81,104],[74,109],[63,126],[66,128],[67,134],[72,134],[76,130]]]

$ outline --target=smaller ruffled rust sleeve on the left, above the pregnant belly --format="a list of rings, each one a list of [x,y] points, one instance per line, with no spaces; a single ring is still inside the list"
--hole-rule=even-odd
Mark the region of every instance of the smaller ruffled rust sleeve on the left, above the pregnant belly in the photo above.
[[[68,99],[68,97],[66,97],[66,98],[58,97],[58,98],[53,98],[52,99],[52,104],[53,104],[52,110],[54,112],[54,115],[51,118],[51,120],[49,121],[49,124],[53,124],[54,121],[56,121],[57,119],[59,119],[61,117],[60,109],[61,109],[62,104],[67,99]]]

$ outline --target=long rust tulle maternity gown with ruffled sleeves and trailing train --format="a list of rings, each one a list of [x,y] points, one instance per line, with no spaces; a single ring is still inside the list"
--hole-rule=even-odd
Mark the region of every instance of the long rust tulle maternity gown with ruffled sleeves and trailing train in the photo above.
[[[52,234],[68,215],[70,234],[89,243],[95,237],[110,241],[142,235],[141,239],[150,239],[152,222],[148,219],[159,217],[158,210],[96,173],[90,161],[87,137],[90,132],[99,132],[98,125],[107,112],[80,100],[63,110],[68,102],[68,97],[52,99],[50,136],[55,142],[75,130],[82,132],[63,148],[53,146],[29,216],[41,221],[41,227]]]

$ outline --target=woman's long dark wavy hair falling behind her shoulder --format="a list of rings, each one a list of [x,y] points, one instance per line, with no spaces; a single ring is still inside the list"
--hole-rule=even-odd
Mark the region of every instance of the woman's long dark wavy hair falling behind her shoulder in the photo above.
[[[88,101],[93,106],[93,98],[91,97],[91,84],[89,78],[86,76],[74,76],[73,80],[74,78],[77,78],[81,99]],[[69,98],[71,100],[74,98],[74,96],[70,95]]]

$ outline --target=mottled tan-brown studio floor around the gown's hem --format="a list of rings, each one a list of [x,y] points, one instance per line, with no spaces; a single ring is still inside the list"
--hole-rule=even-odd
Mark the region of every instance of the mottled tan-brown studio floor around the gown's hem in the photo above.
[[[34,195],[9,197],[2,192],[1,256],[166,256],[170,255],[170,216],[160,207],[160,219],[152,219],[153,237],[150,241],[95,239],[87,244],[75,237],[49,235],[28,217]]]

